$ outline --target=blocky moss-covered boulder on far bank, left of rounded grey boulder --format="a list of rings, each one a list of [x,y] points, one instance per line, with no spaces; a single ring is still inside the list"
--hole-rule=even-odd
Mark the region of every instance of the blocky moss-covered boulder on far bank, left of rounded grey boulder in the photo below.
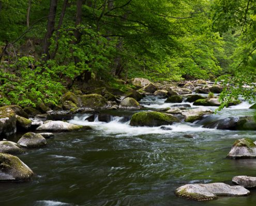
[[[107,100],[100,94],[87,94],[80,96],[82,106],[89,109],[104,109],[107,107]]]

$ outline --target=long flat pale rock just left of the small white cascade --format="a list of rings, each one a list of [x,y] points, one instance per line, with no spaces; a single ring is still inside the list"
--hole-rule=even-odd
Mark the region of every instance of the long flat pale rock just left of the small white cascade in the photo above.
[[[73,131],[78,129],[87,128],[81,125],[74,125],[67,122],[62,121],[51,121],[46,124],[43,124],[37,128],[37,130],[41,131],[52,131],[52,132],[64,132],[64,131]],[[89,128],[87,128],[89,129]]]

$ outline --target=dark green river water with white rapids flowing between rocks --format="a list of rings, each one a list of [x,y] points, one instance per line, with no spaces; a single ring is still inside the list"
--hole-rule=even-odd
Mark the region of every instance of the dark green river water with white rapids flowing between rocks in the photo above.
[[[173,105],[163,101],[146,97],[141,104],[147,110]],[[249,106],[243,102],[210,118],[253,115]],[[174,190],[187,183],[232,184],[233,176],[256,176],[256,160],[225,159],[235,140],[256,140],[256,131],[190,123],[167,126],[172,130],[131,127],[127,116],[134,112],[113,111],[109,123],[99,122],[97,116],[94,122],[85,121],[90,114],[74,116],[70,123],[93,130],[56,133],[46,148],[19,155],[37,176],[31,182],[2,182],[0,205],[255,205],[254,190],[247,197],[208,202],[177,198]]]

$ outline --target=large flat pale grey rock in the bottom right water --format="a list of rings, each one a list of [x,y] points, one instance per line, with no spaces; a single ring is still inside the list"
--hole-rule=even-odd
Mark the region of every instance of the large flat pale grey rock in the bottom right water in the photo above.
[[[250,191],[243,186],[230,186],[225,183],[216,182],[209,184],[186,184],[178,187],[175,194],[190,200],[207,201],[217,199],[218,196],[245,196]]]

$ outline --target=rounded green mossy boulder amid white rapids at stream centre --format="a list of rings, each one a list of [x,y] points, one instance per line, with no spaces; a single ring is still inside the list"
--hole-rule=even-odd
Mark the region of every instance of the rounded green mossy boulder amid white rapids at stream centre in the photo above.
[[[179,122],[179,119],[171,114],[165,114],[161,112],[138,112],[132,115],[130,125],[131,126],[161,126],[171,125],[174,122]]]

